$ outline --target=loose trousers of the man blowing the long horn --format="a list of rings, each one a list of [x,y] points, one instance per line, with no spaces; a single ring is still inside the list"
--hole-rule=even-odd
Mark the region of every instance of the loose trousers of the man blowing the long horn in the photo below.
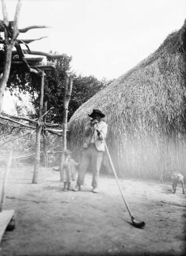
[[[96,149],[95,144],[89,144],[88,148],[85,148],[82,154],[82,159],[78,174],[78,185],[84,184],[84,176],[88,169],[89,164],[92,168],[92,186],[96,188],[98,186],[98,179],[100,174],[100,167],[102,164],[103,152]]]

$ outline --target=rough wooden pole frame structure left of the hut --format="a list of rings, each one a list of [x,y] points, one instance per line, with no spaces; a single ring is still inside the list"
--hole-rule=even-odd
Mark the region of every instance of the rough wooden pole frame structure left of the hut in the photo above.
[[[0,44],[4,46],[4,50],[0,50],[0,58],[4,59],[4,63],[0,63],[0,68],[2,68],[3,64],[3,76],[0,79],[0,119],[4,119],[13,123],[16,123],[17,126],[13,126],[14,128],[24,128],[24,129],[35,129],[36,130],[36,142],[35,142],[35,163],[34,163],[34,171],[33,171],[33,180],[32,183],[36,184],[37,183],[37,172],[38,172],[38,167],[39,167],[39,161],[40,161],[40,139],[41,139],[41,132],[45,135],[45,132],[48,131],[53,134],[57,134],[58,136],[62,136],[61,132],[63,130],[57,130],[54,129],[58,125],[56,124],[47,124],[44,122],[45,127],[43,126],[43,116],[47,115],[46,111],[44,115],[42,115],[43,112],[43,94],[44,94],[44,76],[45,72],[47,70],[51,70],[55,68],[53,65],[43,65],[41,61],[43,58],[41,56],[46,56],[54,59],[60,59],[60,58],[66,58],[66,54],[49,54],[45,52],[39,52],[39,51],[31,51],[29,49],[28,44],[30,42],[33,42],[35,40],[40,40],[42,38],[38,39],[31,39],[31,40],[22,40],[22,39],[17,39],[18,35],[20,33],[25,33],[30,29],[33,28],[47,28],[47,26],[29,26],[26,28],[18,29],[18,19],[20,15],[20,8],[22,4],[22,0],[18,0],[18,4],[16,7],[16,13],[14,16],[14,21],[8,21],[8,13],[6,10],[6,4],[5,0],[1,0],[2,2],[2,10],[3,10],[3,16],[4,20],[0,20],[0,32],[4,32],[4,38],[0,37]],[[24,44],[27,48],[27,50],[23,50],[21,45]],[[13,50],[13,48],[16,48],[16,51]],[[36,58],[27,58],[25,57],[25,54],[31,54],[31,55],[39,55],[39,57]],[[9,74],[10,74],[10,68],[11,66],[23,66],[26,68],[27,72],[35,74],[38,79],[40,79],[41,86],[40,86],[40,93],[39,93],[39,112],[38,112],[38,118],[37,120],[30,120],[28,118],[23,118],[23,117],[18,117],[18,116],[10,116],[7,114],[1,114],[2,112],[2,101],[3,101],[3,96],[4,96],[4,91],[6,88],[6,82],[8,81]],[[73,81],[74,75],[70,76],[70,86],[71,89],[69,88],[69,94],[67,94],[67,88],[69,84],[69,76],[67,77],[68,83],[66,83],[65,88],[65,97],[69,98],[69,95],[71,95],[71,90],[72,90],[72,81]],[[70,98],[69,98],[70,100]],[[64,143],[66,145],[66,132],[67,132],[67,113],[68,113],[68,100],[65,101],[65,135],[64,137]],[[46,110],[46,108],[45,108]],[[28,124],[24,124],[22,122],[19,122],[14,119],[20,119],[20,120],[25,120],[28,122]],[[45,119],[46,120],[46,119]],[[31,124],[34,124],[35,127],[33,127]],[[44,137],[44,136],[43,136]],[[66,146],[64,146],[64,150],[66,150]],[[62,157],[63,159],[63,157]]]

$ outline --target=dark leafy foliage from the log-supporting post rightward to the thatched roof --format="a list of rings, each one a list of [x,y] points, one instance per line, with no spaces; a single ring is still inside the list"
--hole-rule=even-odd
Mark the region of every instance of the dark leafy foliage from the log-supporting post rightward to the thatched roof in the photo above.
[[[52,53],[52,52],[51,52]],[[57,54],[57,52],[55,52]],[[48,118],[49,122],[59,122],[63,120],[63,92],[65,87],[65,72],[70,70],[70,61],[72,57],[60,60],[48,60],[47,64],[55,65],[55,70],[46,73],[45,76],[45,101],[48,102],[48,108],[54,107]],[[74,77],[72,95],[69,102],[68,118],[91,98],[96,92],[105,88],[112,80],[107,81],[105,78],[101,81],[94,76],[82,76],[81,74]]]

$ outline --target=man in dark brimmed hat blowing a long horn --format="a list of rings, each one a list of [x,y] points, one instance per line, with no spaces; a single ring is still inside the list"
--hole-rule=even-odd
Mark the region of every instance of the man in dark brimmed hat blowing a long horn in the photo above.
[[[93,186],[92,192],[98,193],[98,179],[103,159],[103,152],[105,151],[103,138],[106,138],[107,124],[101,120],[105,117],[105,115],[99,108],[93,109],[92,114],[88,114],[88,116],[90,116],[92,120],[87,122],[85,125],[85,142],[83,145],[84,151],[79,168],[77,184],[75,188],[73,188],[73,191],[81,190],[81,185],[84,184],[86,170],[91,162]]]

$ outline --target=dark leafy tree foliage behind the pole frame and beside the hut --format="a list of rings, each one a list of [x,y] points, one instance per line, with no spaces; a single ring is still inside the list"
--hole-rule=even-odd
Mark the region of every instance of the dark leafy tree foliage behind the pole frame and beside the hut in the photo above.
[[[51,54],[58,52],[50,51]],[[45,71],[44,102],[47,102],[47,109],[53,107],[47,115],[47,122],[61,123],[63,120],[63,92],[65,86],[65,72],[70,70],[72,56],[66,56],[59,60],[47,58],[47,64],[55,66],[55,70]],[[0,70],[2,71],[2,70]],[[72,95],[69,103],[68,118],[89,98],[98,91],[108,86],[113,80],[98,80],[93,75],[76,75],[73,80]],[[7,88],[12,94],[18,96],[18,92],[30,95],[30,101],[35,106],[35,114],[28,113],[30,118],[35,118],[38,111],[38,95],[40,80],[35,74],[30,74],[25,68],[17,66],[11,68]],[[15,90],[16,88],[16,90]],[[19,107],[18,107],[19,108]],[[18,109],[21,113],[21,109]]]

